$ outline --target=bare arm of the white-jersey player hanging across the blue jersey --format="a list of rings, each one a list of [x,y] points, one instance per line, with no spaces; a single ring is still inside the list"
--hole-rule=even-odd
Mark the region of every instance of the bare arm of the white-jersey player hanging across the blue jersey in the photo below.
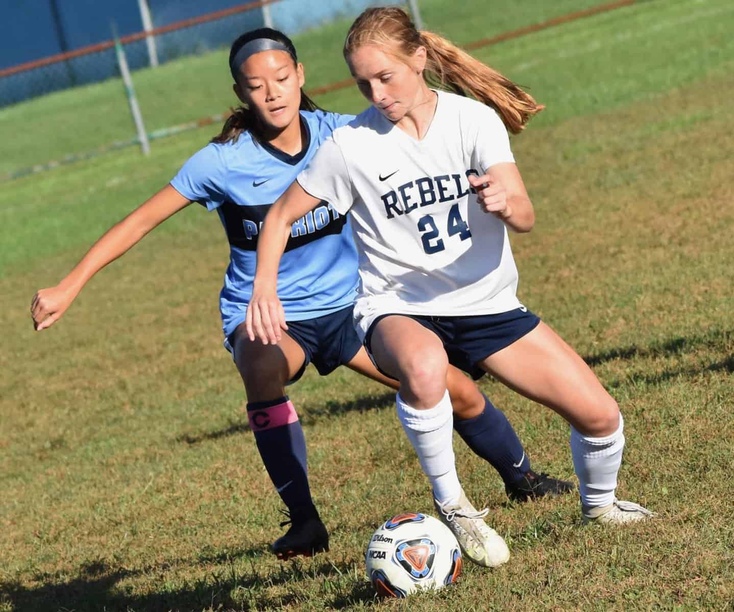
[[[245,329],[250,340],[263,344],[280,342],[280,330],[288,329],[286,313],[277,297],[277,270],[286,250],[291,225],[319,203],[294,181],[270,207],[258,238],[258,264],[252,283],[252,299],[247,305]]]

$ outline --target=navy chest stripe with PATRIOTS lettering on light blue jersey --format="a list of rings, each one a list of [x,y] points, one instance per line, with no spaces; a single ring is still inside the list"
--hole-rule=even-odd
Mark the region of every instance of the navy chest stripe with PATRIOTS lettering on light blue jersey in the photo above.
[[[272,204],[240,206],[232,200],[225,200],[219,207],[227,238],[233,247],[244,251],[258,249],[258,236],[266,214]],[[322,236],[341,233],[346,216],[338,214],[332,205],[321,200],[313,208],[291,225],[291,236],[286,243],[286,252],[304,244],[318,240]]]

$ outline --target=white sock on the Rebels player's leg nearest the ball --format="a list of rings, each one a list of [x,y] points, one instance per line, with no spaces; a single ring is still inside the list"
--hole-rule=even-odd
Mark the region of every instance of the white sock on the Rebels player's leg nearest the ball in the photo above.
[[[428,410],[416,410],[396,396],[398,418],[408,440],[418,453],[418,460],[433,487],[433,495],[441,506],[456,503],[461,484],[454,463],[454,410],[448,391],[438,404]]]

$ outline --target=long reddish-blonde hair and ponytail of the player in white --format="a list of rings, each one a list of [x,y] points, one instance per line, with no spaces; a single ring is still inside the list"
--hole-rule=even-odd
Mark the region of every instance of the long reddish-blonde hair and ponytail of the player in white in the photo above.
[[[426,83],[471,95],[491,106],[512,134],[522,131],[530,118],[545,108],[515,83],[446,38],[433,32],[418,32],[407,12],[399,7],[375,7],[357,17],[346,34],[345,57],[366,44],[388,46],[403,61],[412,57],[419,46],[424,46]]]

